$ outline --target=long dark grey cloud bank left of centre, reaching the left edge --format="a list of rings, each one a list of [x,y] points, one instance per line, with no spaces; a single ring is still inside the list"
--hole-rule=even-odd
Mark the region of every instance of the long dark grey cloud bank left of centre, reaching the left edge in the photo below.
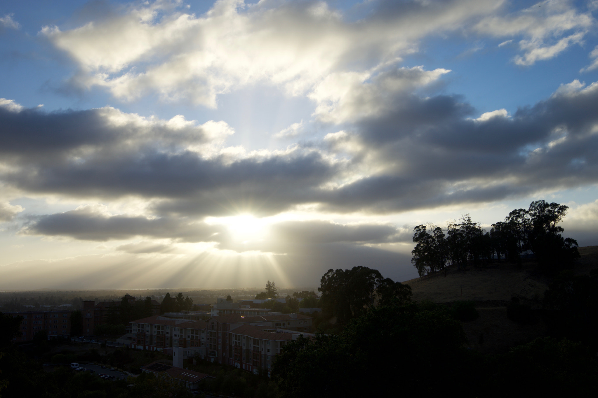
[[[231,159],[205,147],[230,134],[227,125],[171,122],[110,108],[48,114],[0,107],[0,159],[11,163],[2,177],[28,192],[160,198],[159,212],[217,215],[248,205],[258,214],[282,211],[309,201],[335,173],[316,150]]]

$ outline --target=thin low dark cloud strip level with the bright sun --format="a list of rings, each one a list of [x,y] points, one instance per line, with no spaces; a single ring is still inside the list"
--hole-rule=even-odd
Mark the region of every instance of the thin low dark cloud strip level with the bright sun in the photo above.
[[[284,221],[268,226],[267,239],[239,242],[232,229],[221,224],[190,221],[187,218],[111,215],[102,206],[36,217],[22,229],[25,235],[66,236],[80,240],[121,240],[133,237],[173,239],[178,242],[215,242],[234,251],[285,252],[292,248],[331,243],[390,243],[410,239],[410,231],[390,224],[337,224],[329,221]],[[254,236],[250,236],[254,239]],[[243,239],[245,240],[245,239]],[[165,243],[138,242],[118,246],[126,252],[163,252]]]

